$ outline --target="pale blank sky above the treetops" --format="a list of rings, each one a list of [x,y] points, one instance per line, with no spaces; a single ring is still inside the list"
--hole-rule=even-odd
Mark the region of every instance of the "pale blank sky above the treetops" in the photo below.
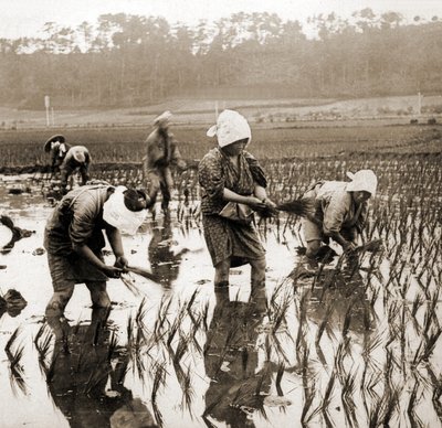
[[[365,8],[377,14],[400,12],[410,22],[415,15],[442,18],[442,0],[0,0],[0,38],[39,36],[45,22],[76,28],[83,21],[95,23],[104,13],[164,17],[170,24],[193,25],[240,11],[272,12],[305,23],[315,14],[334,11],[347,18]]]

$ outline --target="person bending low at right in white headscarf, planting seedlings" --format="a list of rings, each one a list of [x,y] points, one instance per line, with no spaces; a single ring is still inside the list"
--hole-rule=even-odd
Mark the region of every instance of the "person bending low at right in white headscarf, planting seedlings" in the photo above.
[[[307,249],[298,275],[315,274],[316,255],[322,243],[329,238],[343,247],[350,264],[355,261],[351,253],[362,233],[368,200],[376,194],[378,179],[371,170],[360,170],[355,174],[348,172],[347,175],[350,182],[320,181],[303,196],[313,202],[314,212],[303,220]]]

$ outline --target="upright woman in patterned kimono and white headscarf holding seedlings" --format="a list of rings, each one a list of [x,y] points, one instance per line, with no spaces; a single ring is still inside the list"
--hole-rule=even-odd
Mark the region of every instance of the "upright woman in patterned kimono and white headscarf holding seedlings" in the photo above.
[[[218,147],[203,157],[198,174],[214,287],[229,286],[231,267],[250,264],[253,297],[265,287],[265,250],[250,214],[275,204],[266,195],[266,179],[257,160],[245,151],[252,137],[248,120],[238,111],[224,110],[208,136],[217,136]]]

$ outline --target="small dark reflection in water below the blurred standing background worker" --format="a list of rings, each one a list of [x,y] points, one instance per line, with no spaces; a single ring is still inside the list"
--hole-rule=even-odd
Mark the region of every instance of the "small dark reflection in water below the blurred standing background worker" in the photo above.
[[[151,271],[160,282],[170,287],[178,278],[182,254],[186,249],[175,252],[176,243],[169,216],[164,217],[162,227],[158,224],[152,229],[152,237],[148,247]]]

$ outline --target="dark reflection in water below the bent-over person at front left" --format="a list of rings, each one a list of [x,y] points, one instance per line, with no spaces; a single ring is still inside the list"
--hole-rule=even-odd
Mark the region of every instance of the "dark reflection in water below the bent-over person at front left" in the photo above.
[[[48,371],[52,398],[71,427],[155,427],[124,386],[128,352],[109,334],[107,315],[94,309],[91,324],[72,329],[65,319],[48,319],[56,336]]]

